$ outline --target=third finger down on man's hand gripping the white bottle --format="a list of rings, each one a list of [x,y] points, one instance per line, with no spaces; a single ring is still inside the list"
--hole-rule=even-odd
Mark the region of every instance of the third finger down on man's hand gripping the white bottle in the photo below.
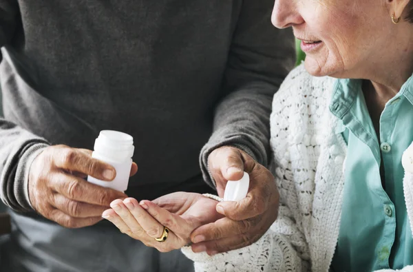
[[[106,209],[100,205],[92,205],[76,200],[70,200],[69,198],[62,196],[60,193],[53,194],[51,204],[56,209],[59,209],[63,211],[63,213],[66,213],[68,216],[72,216],[74,218],[98,218]]]

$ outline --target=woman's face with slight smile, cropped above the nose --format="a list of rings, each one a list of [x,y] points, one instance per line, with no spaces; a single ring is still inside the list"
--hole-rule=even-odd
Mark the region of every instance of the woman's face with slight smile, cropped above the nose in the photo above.
[[[384,1],[275,0],[273,25],[293,27],[314,76],[352,77],[385,54],[392,22]]]

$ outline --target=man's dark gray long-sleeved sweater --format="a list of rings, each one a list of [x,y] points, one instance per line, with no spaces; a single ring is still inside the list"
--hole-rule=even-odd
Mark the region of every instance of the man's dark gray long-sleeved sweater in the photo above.
[[[0,0],[1,200],[32,211],[32,160],[48,145],[93,149],[102,129],[134,136],[138,199],[206,191],[221,145],[266,165],[294,54],[273,1]]]

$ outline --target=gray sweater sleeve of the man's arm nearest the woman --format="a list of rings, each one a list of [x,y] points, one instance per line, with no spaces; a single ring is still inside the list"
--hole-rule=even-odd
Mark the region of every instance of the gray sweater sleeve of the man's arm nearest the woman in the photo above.
[[[291,30],[271,24],[273,0],[242,1],[222,85],[224,96],[215,108],[213,134],[200,154],[204,180],[211,151],[224,145],[242,149],[266,166],[269,159],[271,101],[293,67]]]

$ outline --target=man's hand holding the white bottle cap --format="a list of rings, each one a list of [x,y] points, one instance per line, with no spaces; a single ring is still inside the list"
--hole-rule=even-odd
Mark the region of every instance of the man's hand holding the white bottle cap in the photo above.
[[[235,147],[220,147],[209,155],[209,170],[219,196],[228,180],[250,176],[248,195],[237,202],[221,202],[216,209],[226,218],[195,229],[192,250],[209,255],[246,247],[260,239],[278,214],[279,193],[273,175],[251,156]]]

